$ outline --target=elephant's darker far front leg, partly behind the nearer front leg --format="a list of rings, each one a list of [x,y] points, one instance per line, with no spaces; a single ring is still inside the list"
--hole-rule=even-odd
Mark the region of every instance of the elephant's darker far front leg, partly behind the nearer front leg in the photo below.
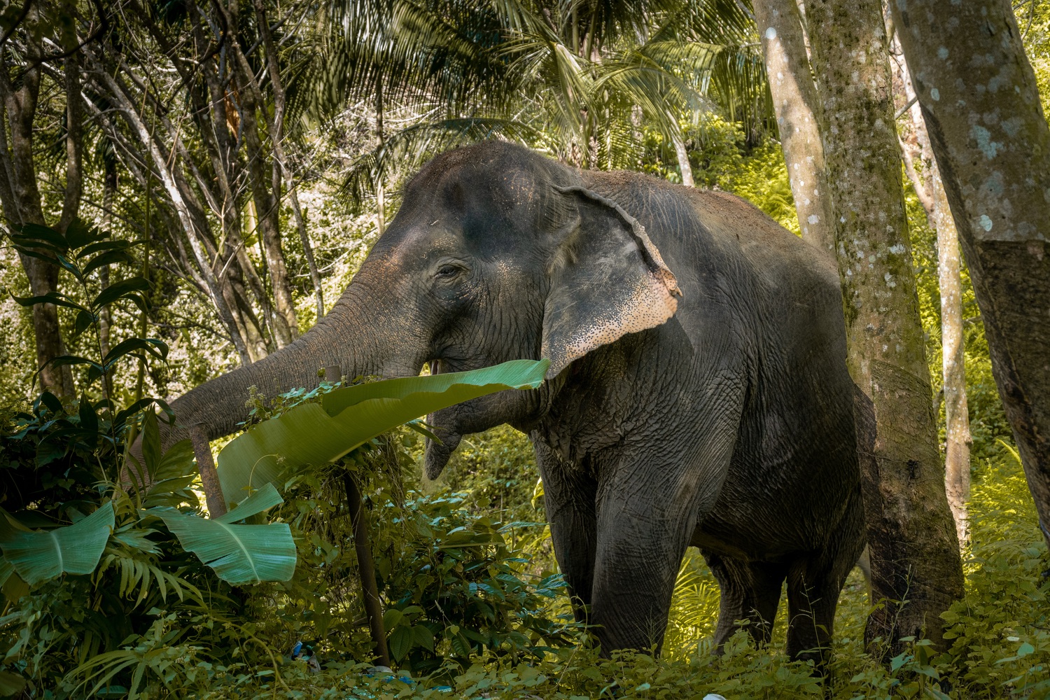
[[[594,578],[597,482],[575,465],[565,463],[546,443],[533,437],[537,466],[543,479],[544,507],[550,524],[554,557],[562,570],[576,620],[586,622]]]

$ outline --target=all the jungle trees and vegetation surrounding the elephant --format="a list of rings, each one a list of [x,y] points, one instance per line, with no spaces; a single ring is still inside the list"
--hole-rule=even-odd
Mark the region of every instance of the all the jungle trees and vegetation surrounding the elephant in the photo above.
[[[1047,2],[6,1],[0,59],[0,697],[1050,697]],[[733,192],[838,260],[875,576],[826,678],[783,608],[713,655],[695,550],[662,654],[601,658],[509,427],[424,482],[416,419],[534,366],[414,379],[229,512],[265,426],[403,386],[319,367],[161,449],[166,400],[304,333],[405,179],[485,139]]]

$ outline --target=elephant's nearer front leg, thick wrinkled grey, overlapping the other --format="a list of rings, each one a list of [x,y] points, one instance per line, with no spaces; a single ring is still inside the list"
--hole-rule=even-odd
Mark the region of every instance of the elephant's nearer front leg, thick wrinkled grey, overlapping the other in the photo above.
[[[635,455],[603,479],[590,617],[603,654],[659,650],[681,557],[717,500],[732,443]],[[690,453],[702,457],[697,462]]]

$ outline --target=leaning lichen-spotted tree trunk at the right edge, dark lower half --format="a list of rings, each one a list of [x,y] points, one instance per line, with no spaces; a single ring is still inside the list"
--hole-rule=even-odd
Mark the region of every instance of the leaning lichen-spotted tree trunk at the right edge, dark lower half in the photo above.
[[[1050,129],[1005,0],[890,3],[1050,544]]]

